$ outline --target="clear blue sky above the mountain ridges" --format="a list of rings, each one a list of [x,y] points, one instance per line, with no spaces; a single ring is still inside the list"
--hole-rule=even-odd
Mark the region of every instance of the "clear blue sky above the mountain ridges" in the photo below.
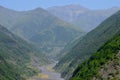
[[[120,7],[120,0],[0,0],[1,6],[18,11],[69,4],[79,4],[90,9],[107,9]]]

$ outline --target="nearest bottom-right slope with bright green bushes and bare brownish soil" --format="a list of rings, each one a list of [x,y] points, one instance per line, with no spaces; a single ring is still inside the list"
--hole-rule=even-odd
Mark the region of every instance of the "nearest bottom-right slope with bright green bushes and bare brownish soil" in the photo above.
[[[120,35],[115,36],[79,65],[70,80],[119,80]]]

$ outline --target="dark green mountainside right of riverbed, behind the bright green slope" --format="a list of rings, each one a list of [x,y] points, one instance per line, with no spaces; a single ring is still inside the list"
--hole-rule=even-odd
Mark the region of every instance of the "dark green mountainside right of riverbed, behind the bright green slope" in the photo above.
[[[80,39],[72,49],[67,51],[66,55],[55,66],[55,69],[62,72],[62,77],[71,77],[78,64],[96,52],[113,36],[120,33],[119,22],[120,11],[103,21],[97,28]]]

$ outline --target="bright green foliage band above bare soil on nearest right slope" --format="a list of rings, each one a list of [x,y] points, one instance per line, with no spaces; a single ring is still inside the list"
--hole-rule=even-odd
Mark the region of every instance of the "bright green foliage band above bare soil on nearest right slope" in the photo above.
[[[120,50],[120,36],[114,37],[103,45],[96,53],[79,65],[71,80],[93,80],[105,63],[115,58]],[[113,75],[113,74],[110,74]],[[101,79],[100,79],[101,80]]]

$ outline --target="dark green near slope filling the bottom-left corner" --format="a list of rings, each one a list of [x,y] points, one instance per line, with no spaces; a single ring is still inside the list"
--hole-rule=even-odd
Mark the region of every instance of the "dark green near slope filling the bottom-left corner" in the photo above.
[[[15,66],[11,66],[10,64],[8,64],[0,56],[0,80],[24,80],[24,79],[20,77],[20,74],[17,73]]]

